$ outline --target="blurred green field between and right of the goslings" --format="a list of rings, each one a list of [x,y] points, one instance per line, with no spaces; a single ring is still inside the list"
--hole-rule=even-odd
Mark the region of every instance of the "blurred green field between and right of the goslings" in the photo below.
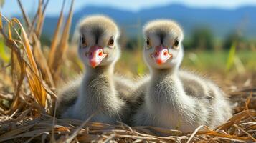
[[[143,61],[142,51],[123,51],[116,70],[129,74],[146,74],[148,68]],[[182,68],[202,72],[227,73],[256,71],[256,51],[185,51]]]

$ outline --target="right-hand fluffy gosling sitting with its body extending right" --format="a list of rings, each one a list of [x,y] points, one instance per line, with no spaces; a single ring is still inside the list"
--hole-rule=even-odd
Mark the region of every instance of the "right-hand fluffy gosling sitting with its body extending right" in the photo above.
[[[181,71],[184,34],[174,21],[156,20],[144,26],[144,61],[150,69],[145,101],[135,125],[191,132],[204,124],[216,127],[232,115],[228,100],[217,85],[189,71]]]

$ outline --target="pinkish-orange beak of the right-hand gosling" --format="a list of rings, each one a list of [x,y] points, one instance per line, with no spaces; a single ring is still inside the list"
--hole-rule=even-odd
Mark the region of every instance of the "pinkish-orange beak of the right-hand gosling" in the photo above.
[[[172,57],[167,47],[156,46],[155,51],[151,54],[151,57],[156,61],[156,64],[163,64]]]

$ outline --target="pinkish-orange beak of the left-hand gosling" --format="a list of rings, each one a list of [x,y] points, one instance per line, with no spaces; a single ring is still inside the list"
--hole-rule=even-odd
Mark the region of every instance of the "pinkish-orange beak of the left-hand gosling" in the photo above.
[[[89,62],[90,65],[95,68],[100,62],[107,56],[103,52],[103,48],[100,46],[91,46],[89,50]]]

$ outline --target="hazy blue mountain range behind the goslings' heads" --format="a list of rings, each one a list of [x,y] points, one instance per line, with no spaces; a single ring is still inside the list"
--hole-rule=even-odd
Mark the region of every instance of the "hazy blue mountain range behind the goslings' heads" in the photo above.
[[[243,36],[256,37],[256,7],[244,6],[239,9],[202,9],[190,8],[177,4],[142,9],[141,11],[124,11],[104,6],[85,6],[75,11],[72,28],[77,22],[90,14],[105,14],[113,18],[128,36],[141,33],[141,26],[152,19],[174,19],[184,28],[186,34],[198,27],[208,27],[215,36],[222,37],[234,30],[240,30]],[[47,17],[44,23],[44,34],[53,34],[58,17]],[[140,30],[140,31],[138,31]]]

